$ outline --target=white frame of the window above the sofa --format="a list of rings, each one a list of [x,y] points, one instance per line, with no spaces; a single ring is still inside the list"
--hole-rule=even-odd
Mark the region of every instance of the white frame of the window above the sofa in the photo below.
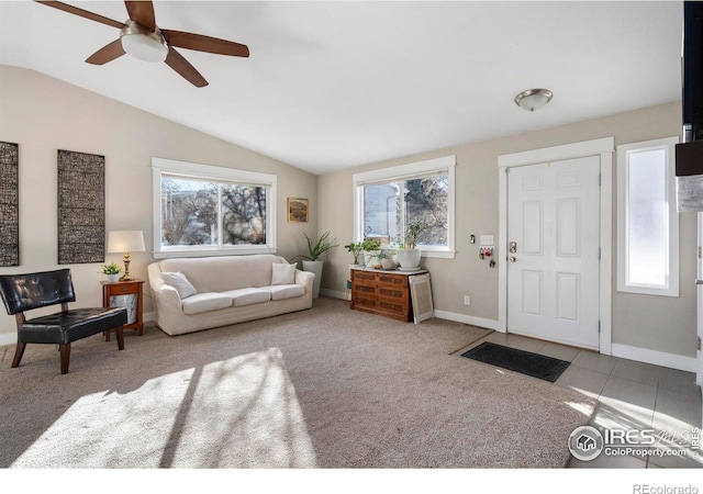
[[[163,246],[161,245],[161,175],[180,175],[200,180],[214,182],[241,182],[250,186],[260,186],[268,189],[266,197],[266,244],[263,245],[216,245],[216,246]],[[239,170],[236,168],[215,167],[188,161],[177,161],[166,158],[152,158],[152,187],[153,187],[153,217],[154,217],[154,258],[165,259],[171,257],[203,257],[203,256],[238,256],[247,254],[276,254],[277,221],[276,195],[277,177],[258,171]],[[217,227],[222,229],[222,220],[219,218]],[[221,239],[222,234],[219,232]]]

